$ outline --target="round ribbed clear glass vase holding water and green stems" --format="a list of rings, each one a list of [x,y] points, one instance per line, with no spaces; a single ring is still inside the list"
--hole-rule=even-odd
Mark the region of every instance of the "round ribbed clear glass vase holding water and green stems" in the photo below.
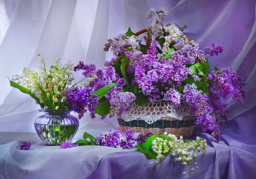
[[[79,120],[65,109],[40,109],[43,115],[35,119],[35,130],[46,145],[60,145],[63,141],[72,141]]]

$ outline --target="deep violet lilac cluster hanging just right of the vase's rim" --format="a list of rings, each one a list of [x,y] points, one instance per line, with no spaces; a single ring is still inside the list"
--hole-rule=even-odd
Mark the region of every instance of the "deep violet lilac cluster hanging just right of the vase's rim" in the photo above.
[[[76,113],[79,114],[79,119],[84,116],[87,111],[90,111],[90,116],[95,118],[95,110],[98,105],[98,95],[92,94],[92,89],[89,86],[75,87],[67,91],[66,101],[71,105]]]

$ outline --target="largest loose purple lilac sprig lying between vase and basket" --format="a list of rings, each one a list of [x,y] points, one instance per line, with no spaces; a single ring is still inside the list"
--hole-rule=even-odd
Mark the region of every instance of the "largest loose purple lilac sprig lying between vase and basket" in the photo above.
[[[110,130],[108,134],[100,135],[94,139],[97,145],[115,148],[131,148],[135,143],[133,129],[127,130],[125,134],[119,131]]]

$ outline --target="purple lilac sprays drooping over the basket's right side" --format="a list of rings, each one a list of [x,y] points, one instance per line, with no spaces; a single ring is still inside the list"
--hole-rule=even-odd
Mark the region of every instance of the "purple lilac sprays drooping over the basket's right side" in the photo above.
[[[203,131],[212,131],[213,138],[220,141],[220,131],[218,125],[225,127],[224,122],[228,121],[227,104],[222,103],[221,98],[232,98],[237,103],[243,103],[242,97],[246,92],[243,87],[246,85],[241,81],[243,78],[238,76],[230,68],[223,68],[219,72],[209,73],[209,97],[197,89],[195,84],[187,84],[183,90],[183,102],[190,106],[190,111],[197,116],[196,124],[204,124]]]

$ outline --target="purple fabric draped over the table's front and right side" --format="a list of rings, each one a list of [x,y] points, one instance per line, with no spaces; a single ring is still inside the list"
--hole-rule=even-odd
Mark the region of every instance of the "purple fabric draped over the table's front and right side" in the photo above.
[[[197,158],[199,169],[191,176],[183,176],[187,166],[181,166],[169,155],[162,163],[150,165],[138,151],[111,153],[102,157],[98,167],[88,178],[256,178],[256,106],[237,116],[222,129],[222,141],[201,132],[198,127],[191,139],[207,139],[205,155]]]

